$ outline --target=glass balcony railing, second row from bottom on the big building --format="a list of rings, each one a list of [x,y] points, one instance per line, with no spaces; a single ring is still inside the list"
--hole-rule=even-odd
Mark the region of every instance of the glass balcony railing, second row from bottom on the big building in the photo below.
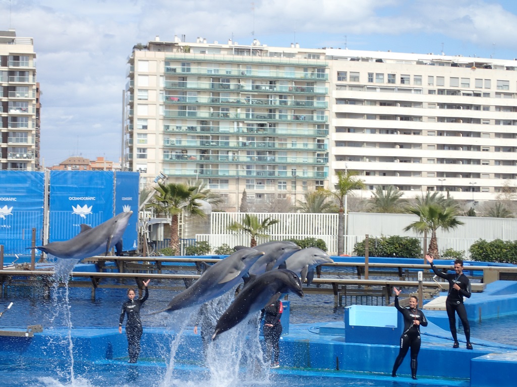
[[[300,156],[242,156],[237,154],[165,154],[163,156],[165,162],[215,162],[215,163],[266,163],[266,164],[297,164],[297,165],[309,165],[309,164],[326,164],[328,163],[327,157],[300,157]]]

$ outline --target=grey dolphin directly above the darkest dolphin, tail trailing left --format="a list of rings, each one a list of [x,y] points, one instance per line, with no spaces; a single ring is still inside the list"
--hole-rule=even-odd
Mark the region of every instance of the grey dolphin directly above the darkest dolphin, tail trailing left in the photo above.
[[[221,259],[208,267],[191,286],[175,296],[165,309],[151,314],[204,304],[223,295],[237,286],[242,276],[263,254],[264,252],[255,249],[242,249]]]

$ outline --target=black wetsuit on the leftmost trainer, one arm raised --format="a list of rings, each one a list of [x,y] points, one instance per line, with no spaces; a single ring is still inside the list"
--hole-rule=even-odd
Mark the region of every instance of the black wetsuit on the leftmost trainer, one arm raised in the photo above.
[[[122,304],[119,326],[124,322],[124,315],[128,315],[126,322],[126,336],[128,338],[129,362],[136,363],[140,354],[140,338],[142,337],[142,321],[140,320],[140,308],[149,297],[149,290],[145,288],[145,295],[139,299],[127,300]]]

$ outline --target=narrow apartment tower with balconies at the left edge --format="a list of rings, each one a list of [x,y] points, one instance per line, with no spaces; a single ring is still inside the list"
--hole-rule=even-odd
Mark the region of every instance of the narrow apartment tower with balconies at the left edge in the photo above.
[[[39,168],[39,110],[33,39],[0,31],[0,169]]]

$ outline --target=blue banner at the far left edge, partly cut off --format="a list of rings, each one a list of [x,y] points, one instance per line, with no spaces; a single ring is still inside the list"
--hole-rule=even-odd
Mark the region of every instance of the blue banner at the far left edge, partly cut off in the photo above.
[[[43,227],[44,174],[0,171],[0,244],[6,255],[31,254],[32,229],[36,243]]]

